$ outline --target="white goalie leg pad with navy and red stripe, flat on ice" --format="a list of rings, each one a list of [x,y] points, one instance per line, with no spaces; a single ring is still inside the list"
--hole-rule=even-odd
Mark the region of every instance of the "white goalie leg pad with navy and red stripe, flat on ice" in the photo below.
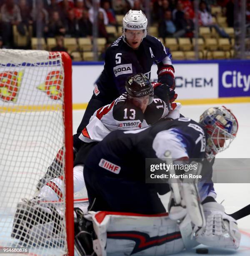
[[[168,214],[139,215],[127,212],[92,212],[97,235],[93,241],[97,255],[172,255],[184,244],[176,221]]]

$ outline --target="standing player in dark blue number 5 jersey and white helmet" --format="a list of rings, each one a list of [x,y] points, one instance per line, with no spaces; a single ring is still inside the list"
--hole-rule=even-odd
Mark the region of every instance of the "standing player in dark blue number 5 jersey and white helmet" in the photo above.
[[[74,135],[74,146],[95,110],[109,104],[125,92],[125,81],[132,74],[143,73],[150,79],[151,67],[158,65],[158,87],[155,95],[166,101],[165,95],[173,89],[170,101],[175,100],[175,69],[168,48],[155,37],[147,35],[148,20],[140,10],[130,10],[123,18],[122,36],[107,49],[102,74],[97,79],[94,92],[82,121]]]

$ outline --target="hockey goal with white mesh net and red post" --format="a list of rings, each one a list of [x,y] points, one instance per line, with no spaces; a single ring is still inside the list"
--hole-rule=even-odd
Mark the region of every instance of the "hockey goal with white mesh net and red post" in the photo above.
[[[0,50],[0,249],[74,252],[71,76],[66,53]],[[46,212],[29,200],[60,148],[65,197]]]

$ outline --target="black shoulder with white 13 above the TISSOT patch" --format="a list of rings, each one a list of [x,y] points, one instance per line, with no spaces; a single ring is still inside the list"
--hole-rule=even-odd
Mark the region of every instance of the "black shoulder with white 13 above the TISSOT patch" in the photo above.
[[[143,122],[143,111],[133,105],[130,100],[123,100],[121,96],[117,98],[113,107],[113,118],[117,121],[140,120]]]

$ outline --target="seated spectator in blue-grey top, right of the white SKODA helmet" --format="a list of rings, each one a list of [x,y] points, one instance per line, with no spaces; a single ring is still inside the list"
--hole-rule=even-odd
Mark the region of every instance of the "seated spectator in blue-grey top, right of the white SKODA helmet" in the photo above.
[[[184,30],[177,31],[175,23],[172,20],[172,13],[170,10],[165,10],[164,20],[159,23],[158,27],[159,37],[180,37],[185,34]]]

